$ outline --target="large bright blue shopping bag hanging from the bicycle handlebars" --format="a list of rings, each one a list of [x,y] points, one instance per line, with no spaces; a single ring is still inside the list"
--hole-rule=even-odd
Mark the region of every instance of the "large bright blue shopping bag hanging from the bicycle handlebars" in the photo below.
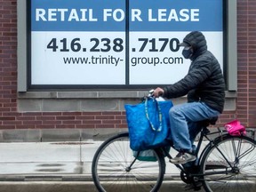
[[[171,100],[158,101],[154,98],[146,98],[140,104],[124,106],[132,150],[159,148],[169,143],[169,110],[172,106]]]

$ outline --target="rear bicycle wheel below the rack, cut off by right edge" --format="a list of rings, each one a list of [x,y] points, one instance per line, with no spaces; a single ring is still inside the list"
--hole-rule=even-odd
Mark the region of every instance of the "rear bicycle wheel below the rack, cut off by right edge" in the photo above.
[[[214,140],[201,162],[205,191],[255,191],[255,144],[251,138],[228,134]]]

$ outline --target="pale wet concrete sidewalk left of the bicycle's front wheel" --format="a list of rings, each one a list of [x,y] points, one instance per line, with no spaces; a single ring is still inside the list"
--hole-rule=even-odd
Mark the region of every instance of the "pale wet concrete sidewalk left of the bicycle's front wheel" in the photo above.
[[[0,177],[91,175],[92,157],[100,142],[0,143]]]

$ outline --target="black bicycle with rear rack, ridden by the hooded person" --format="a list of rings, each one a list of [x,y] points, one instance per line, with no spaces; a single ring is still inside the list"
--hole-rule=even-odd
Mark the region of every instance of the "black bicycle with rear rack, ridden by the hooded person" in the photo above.
[[[180,170],[180,179],[207,192],[255,191],[256,186],[256,141],[241,134],[231,136],[218,128],[207,128],[216,119],[202,122],[202,131],[196,147],[197,160],[192,169],[175,164]],[[254,135],[254,131],[253,135]],[[218,136],[212,135],[218,134]],[[208,144],[202,147],[203,141]],[[172,148],[172,143],[170,143]],[[170,148],[169,148],[170,149]],[[92,180],[100,191],[158,191],[161,187],[166,162],[171,159],[168,148],[152,149],[156,161],[140,161],[130,148],[129,132],[119,133],[104,141],[92,159]],[[170,163],[171,164],[171,163]],[[193,170],[193,172],[191,172]],[[254,186],[254,188],[252,188]]]

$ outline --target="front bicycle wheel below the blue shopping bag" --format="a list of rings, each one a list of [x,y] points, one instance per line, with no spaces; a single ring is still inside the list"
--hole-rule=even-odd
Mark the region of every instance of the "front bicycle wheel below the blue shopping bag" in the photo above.
[[[92,160],[92,180],[101,191],[157,191],[165,172],[164,156],[154,150],[156,162],[139,161],[130,148],[129,134],[103,142]]]

